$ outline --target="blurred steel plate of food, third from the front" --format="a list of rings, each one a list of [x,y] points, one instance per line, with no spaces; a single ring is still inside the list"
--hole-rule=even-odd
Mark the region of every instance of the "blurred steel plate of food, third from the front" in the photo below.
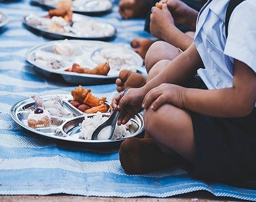
[[[49,30],[51,18],[46,18],[48,12],[26,15],[23,23],[32,31],[39,32],[42,36],[53,39],[86,39],[86,40],[110,40],[116,36],[116,28],[97,17],[89,17],[73,13],[72,23],[67,24],[60,31]]]

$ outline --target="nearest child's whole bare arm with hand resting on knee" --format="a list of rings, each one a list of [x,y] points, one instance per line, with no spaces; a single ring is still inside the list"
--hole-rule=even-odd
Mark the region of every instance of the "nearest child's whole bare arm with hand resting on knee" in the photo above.
[[[232,88],[199,90],[163,83],[147,93],[143,108],[157,110],[163,103],[219,117],[248,115],[256,102],[256,73],[245,63],[234,61]]]

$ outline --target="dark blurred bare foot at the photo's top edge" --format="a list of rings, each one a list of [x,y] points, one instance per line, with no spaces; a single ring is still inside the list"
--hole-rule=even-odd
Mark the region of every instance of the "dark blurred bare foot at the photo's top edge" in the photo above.
[[[146,18],[151,10],[151,0],[120,0],[118,5],[122,18]]]

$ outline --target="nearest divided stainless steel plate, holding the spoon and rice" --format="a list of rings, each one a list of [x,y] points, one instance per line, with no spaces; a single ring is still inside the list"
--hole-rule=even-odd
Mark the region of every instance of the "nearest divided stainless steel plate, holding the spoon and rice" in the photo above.
[[[40,96],[43,100],[50,100],[56,95]],[[78,136],[80,130],[80,123],[84,120],[85,116],[95,116],[95,114],[85,114],[72,106],[69,100],[72,100],[72,96],[69,95],[57,95],[63,100],[63,108],[68,110],[70,114],[68,116],[58,117],[52,116],[52,123],[50,127],[32,129],[28,127],[27,118],[30,113],[29,108],[35,105],[32,98],[22,100],[14,104],[11,107],[10,115],[11,118],[18,123],[22,128],[39,135],[40,137],[47,137],[55,141],[61,141],[63,143],[74,143],[75,145],[82,145],[86,148],[94,149],[107,149],[119,145],[124,139],[113,139],[113,140],[86,140]],[[104,113],[103,116],[110,116],[110,113]],[[135,137],[140,135],[144,131],[144,122],[142,114],[136,114],[132,119],[132,125],[130,125],[128,131],[130,131],[130,136]]]

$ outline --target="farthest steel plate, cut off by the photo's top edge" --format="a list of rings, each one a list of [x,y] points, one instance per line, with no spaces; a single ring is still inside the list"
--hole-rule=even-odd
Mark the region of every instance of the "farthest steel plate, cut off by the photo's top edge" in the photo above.
[[[57,0],[32,0],[35,5],[47,9],[56,8],[57,2]],[[113,3],[109,0],[74,0],[72,2],[72,11],[85,15],[103,15],[113,8]]]

